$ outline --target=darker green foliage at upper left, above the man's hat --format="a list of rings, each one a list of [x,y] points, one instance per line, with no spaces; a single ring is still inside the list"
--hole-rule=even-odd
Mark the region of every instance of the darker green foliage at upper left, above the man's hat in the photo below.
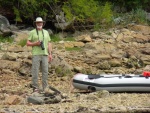
[[[22,21],[22,18],[33,19],[37,16],[41,16],[44,19],[49,16],[50,4],[58,2],[58,0],[5,0],[0,1],[1,6],[10,7],[15,14],[15,21]],[[40,9],[40,10],[39,10]]]

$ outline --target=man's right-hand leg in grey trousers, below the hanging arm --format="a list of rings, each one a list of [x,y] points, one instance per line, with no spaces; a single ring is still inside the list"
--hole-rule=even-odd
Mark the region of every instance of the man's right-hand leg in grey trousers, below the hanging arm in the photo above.
[[[48,83],[48,56],[42,56],[42,86],[43,91],[47,87]]]

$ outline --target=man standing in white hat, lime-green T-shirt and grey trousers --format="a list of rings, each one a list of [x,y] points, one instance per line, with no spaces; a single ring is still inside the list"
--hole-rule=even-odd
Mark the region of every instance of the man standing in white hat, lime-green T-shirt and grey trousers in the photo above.
[[[48,31],[43,29],[45,21],[37,17],[34,25],[36,28],[30,31],[26,43],[27,46],[32,46],[32,87],[34,91],[39,91],[38,74],[41,66],[42,90],[44,91],[48,86],[48,62],[52,60],[52,45]]]

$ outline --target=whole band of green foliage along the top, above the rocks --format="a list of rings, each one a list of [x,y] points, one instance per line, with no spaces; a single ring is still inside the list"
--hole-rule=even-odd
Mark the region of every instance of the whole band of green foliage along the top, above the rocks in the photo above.
[[[94,23],[95,29],[112,24],[113,8],[117,6],[128,12],[133,10],[133,19],[144,23],[144,11],[149,5],[150,0],[0,0],[0,7],[9,8],[16,22],[33,21],[37,16],[51,21],[64,11],[67,21],[74,20],[81,25]]]

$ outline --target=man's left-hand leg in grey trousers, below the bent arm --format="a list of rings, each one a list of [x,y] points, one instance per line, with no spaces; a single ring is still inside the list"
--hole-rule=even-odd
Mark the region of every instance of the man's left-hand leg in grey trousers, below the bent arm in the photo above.
[[[40,56],[33,56],[32,58],[32,86],[38,89],[38,74],[40,67]]]

